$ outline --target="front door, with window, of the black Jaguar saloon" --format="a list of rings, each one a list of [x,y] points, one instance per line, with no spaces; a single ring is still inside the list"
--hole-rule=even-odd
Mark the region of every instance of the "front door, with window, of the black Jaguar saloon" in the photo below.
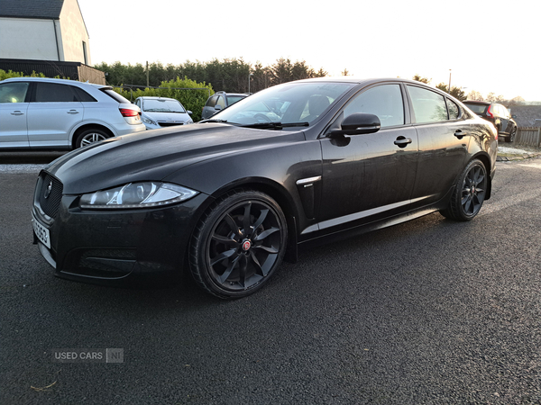
[[[406,125],[401,85],[363,90],[335,122],[356,112],[377,115],[381,130],[321,139],[319,229],[348,229],[408,210],[417,171],[417,132]]]

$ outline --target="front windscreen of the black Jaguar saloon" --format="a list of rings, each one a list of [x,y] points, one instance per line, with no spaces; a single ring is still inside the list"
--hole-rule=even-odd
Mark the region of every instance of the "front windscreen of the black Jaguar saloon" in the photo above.
[[[308,125],[326,112],[354,84],[286,83],[252,94],[216,113],[211,121],[238,125],[294,123]]]

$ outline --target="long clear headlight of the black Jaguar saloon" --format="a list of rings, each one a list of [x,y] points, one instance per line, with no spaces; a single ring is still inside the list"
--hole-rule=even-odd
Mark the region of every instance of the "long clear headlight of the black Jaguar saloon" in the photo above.
[[[151,208],[186,201],[196,194],[197,191],[177,184],[130,183],[96,193],[84,194],[80,199],[79,207],[95,210]]]

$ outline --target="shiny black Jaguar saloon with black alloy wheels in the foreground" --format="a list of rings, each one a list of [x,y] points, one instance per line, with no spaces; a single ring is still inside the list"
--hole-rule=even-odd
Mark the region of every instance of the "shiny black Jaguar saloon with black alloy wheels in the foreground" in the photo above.
[[[211,120],[78,149],[41,170],[34,240],[55,274],[257,291],[298,247],[491,197],[496,130],[448,94],[402,79],[276,85]]]

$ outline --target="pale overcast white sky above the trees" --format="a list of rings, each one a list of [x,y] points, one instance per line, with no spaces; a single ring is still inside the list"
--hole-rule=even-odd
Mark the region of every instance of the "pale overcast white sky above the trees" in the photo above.
[[[536,0],[78,0],[93,65],[279,58],[541,101]]]

